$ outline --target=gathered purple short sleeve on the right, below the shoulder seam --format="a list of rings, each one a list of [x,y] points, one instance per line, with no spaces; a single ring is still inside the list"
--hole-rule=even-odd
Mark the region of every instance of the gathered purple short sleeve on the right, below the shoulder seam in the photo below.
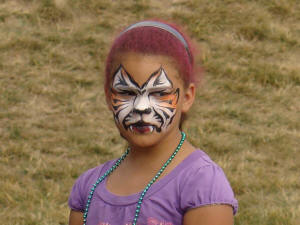
[[[181,208],[187,211],[214,204],[231,205],[233,214],[238,209],[237,200],[223,170],[210,164],[191,171],[181,190]]]

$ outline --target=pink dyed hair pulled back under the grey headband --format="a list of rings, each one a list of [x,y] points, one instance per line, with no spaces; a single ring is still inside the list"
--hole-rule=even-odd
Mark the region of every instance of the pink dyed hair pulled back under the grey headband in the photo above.
[[[170,24],[164,21],[157,21],[167,24],[168,26],[179,32],[188,45],[188,51],[183,43],[170,32],[151,26],[143,26],[132,28],[124,33],[121,33],[113,42],[106,59],[105,68],[105,92],[108,94],[111,76],[114,71],[114,60],[119,53],[124,52],[138,52],[143,54],[157,54],[171,57],[175,60],[178,66],[179,74],[184,81],[185,86],[190,83],[196,83],[199,79],[196,77],[196,70],[194,65],[194,48],[191,45],[189,38],[184,35],[177,25]],[[201,75],[200,67],[197,69]]]

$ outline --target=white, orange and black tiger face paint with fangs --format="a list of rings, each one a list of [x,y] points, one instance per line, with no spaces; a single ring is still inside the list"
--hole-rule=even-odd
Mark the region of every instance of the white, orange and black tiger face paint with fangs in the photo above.
[[[163,68],[152,73],[140,87],[122,67],[114,75],[111,104],[115,121],[138,133],[161,132],[176,114],[179,88],[174,90]]]

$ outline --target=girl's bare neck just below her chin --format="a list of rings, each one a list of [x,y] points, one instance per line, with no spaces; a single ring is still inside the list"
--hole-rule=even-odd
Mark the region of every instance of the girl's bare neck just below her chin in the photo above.
[[[175,130],[167,134],[162,141],[156,145],[149,147],[130,146],[131,151],[128,155],[128,161],[132,165],[139,168],[144,166],[151,166],[154,164],[161,164],[166,161],[174,152],[181,140],[180,130]]]

